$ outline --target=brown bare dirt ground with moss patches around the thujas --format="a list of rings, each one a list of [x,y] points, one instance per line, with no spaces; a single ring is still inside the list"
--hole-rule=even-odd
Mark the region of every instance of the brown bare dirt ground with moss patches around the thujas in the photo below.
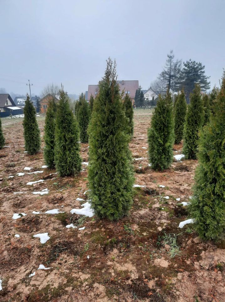
[[[38,117],[42,148],[34,156],[24,153],[22,119],[2,120],[9,147],[0,150],[0,301],[225,301],[225,244],[201,242],[191,224],[178,228],[190,217],[176,198],[189,201],[197,161],[174,162],[163,172],[151,169],[146,149],[151,114],[134,110],[130,143],[133,158],[141,158],[133,160],[135,184],[146,188],[135,188],[130,214],[117,222],[70,214],[81,208],[76,198],[88,199],[88,167],[75,178],[42,168],[44,115]],[[87,147],[81,144],[85,162]],[[174,146],[175,155],[181,150]],[[28,174],[34,171],[43,172]],[[40,179],[44,182],[26,185]],[[45,188],[48,194],[32,194]],[[32,214],[52,209],[64,213]],[[13,220],[15,213],[27,215]],[[71,223],[85,229],[65,227]],[[44,244],[33,237],[45,232],[50,240]],[[181,253],[174,258],[163,245],[165,234],[178,235]],[[50,269],[37,270],[40,264]]]

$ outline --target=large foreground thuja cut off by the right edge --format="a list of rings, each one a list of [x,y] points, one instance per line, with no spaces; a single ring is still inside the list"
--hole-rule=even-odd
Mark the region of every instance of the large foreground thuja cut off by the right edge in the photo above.
[[[190,215],[199,236],[219,241],[225,234],[225,74],[215,114],[202,129]]]

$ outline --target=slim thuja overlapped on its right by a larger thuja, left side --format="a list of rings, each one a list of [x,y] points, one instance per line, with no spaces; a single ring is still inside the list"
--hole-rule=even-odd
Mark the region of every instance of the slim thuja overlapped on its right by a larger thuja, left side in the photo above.
[[[55,114],[56,104],[54,98],[52,98],[48,103],[44,125],[44,160],[51,169],[55,167]]]

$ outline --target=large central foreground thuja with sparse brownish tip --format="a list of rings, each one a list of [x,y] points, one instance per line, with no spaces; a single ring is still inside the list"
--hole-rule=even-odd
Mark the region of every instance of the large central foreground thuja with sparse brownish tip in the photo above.
[[[116,65],[109,58],[89,126],[88,180],[91,205],[101,218],[117,220],[132,205],[133,168],[128,148],[128,118],[116,81]]]

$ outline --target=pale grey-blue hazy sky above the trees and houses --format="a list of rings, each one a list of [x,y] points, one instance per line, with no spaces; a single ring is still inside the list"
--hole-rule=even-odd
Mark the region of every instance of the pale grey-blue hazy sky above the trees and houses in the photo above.
[[[212,87],[225,67],[224,16],[224,0],[0,0],[0,87],[25,94],[30,79],[35,94],[52,82],[79,94],[110,56],[119,80],[147,89],[170,49],[202,62]]]

